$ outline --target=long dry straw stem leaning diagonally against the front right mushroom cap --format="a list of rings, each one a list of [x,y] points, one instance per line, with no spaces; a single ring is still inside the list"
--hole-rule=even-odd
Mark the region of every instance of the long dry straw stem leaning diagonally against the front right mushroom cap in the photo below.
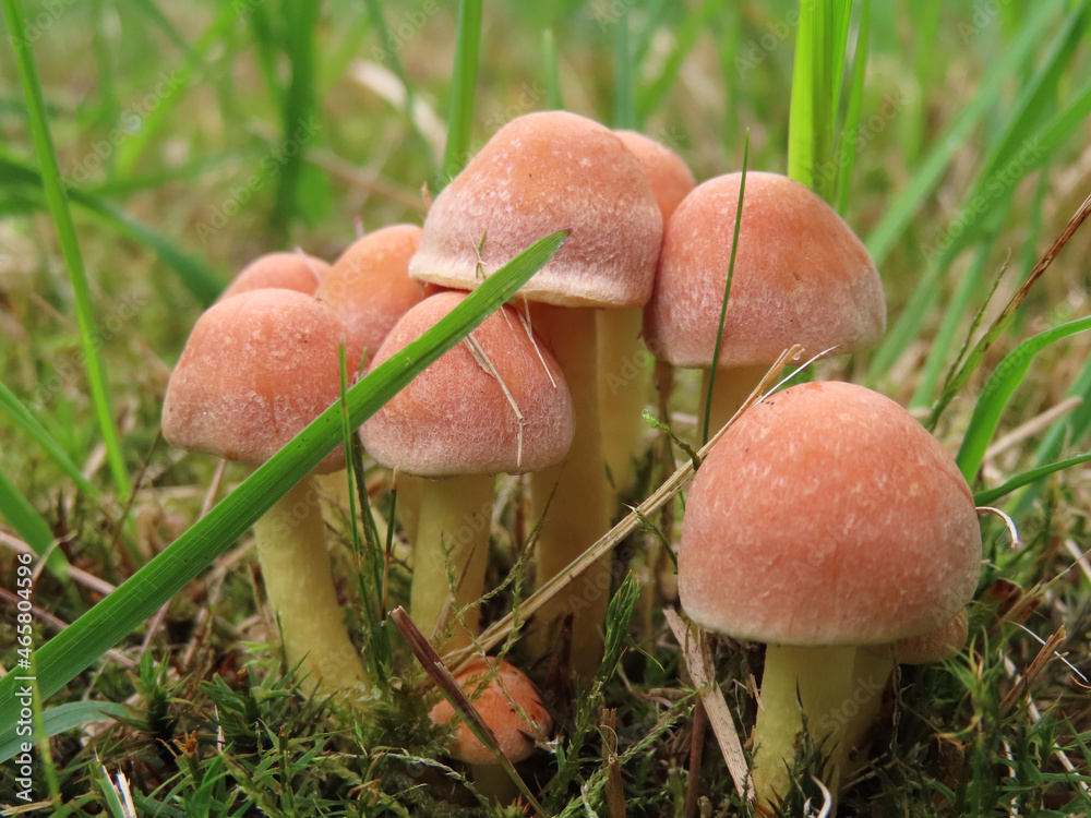
[[[747,398],[743,405],[739,408],[739,411],[729,420],[723,429],[712,435],[708,443],[702,446],[700,450],[697,452],[698,459],[704,458],[720,440],[723,432],[731,426],[732,423],[747,409],[750,409],[754,404],[760,400],[762,396],[765,394],[766,389],[769,389],[780,372],[789,364],[789,362],[795,360],[799,354],[803,351],[800,345],[794,345],[791,349],[786,350],[781,353],[777,362],[772,364],[770,370],[766,373],[766,376],[762,378],[754,392],[751,393],[750,398]],[[640,526],[642,519],[647,519],[660,508],[663,507],[671,498],[678,494],[682,489],[685,488],[686,483],[693,477],[694,465],[692,460],[686,460],[685,464],[671,474],[667,481],[656,490],[656,492],[644,501],[640,505],[630,512],[616,526],[607,531],[594,545],[587,549],[583,554],[568,563],[568,567],[563,572],[558,574],[555,577],[546,582],[541,588],[535,591],[531,596],[527,597],[526,600],[519,605],[518,616],[520,621],[527,619],[531,614],[533,614],[538,609],[549,602],[551,599],[560,594],[570,584],[575,581],[575,579],[587,570],[589,567],[595,565],[596,562],[601,560],[603,556],[609,554],[614,546],[633,533]],[[490,625],[481,634],[478,639],[478,646],[480,650],[488,651],[500,645],[504,638],[512,631],[515,626],[515,612],[505,614],[503,618],[497,619],[492,625]],[[470,648],[463,648],[461,650],[453,651],[446,659],[452,663],[455,672],[463,670],[470,661],[475,658],[476,653]]]

